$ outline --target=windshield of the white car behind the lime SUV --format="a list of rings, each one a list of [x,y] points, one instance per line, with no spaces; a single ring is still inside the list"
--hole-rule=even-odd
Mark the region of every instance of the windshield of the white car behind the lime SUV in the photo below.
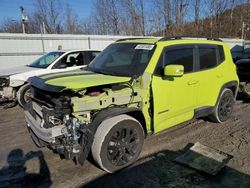
[[[47,54],[43,55],[42,57],[40,57],[39,59],[37,59],[36,61],[34,61],[33,63],[31,63],[29,66],[35,67],[35,68],[44,68],[45,69],[51,63],[53,63],[58,57],[60,57],[62,54],[64,54],[64,52],[47,53]]]

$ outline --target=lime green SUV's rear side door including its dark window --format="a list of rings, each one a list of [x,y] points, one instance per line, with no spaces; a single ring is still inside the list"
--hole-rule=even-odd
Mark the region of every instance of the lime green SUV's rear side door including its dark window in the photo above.
[[[196,71],[199,76],[199,89],[197,92],[197,106],[214,106],[222,86],[226,69],[221,71],[225,60],[224,51],[218,45],[197,45]]]

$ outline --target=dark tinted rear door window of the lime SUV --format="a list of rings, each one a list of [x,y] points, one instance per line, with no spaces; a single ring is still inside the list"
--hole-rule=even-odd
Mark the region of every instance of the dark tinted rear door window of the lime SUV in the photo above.
[[[217,65],[216,48],[199,48],[200,70],[209,69]]]

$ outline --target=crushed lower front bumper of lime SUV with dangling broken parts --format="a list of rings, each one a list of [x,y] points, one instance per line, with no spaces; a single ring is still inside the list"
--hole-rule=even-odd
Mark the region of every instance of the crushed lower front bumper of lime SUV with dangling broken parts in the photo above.
[[[83,165],[93,142],[91,132],[88,129],[77,130],[76,122],[74,123],[71,118],[67,120],[67,117],[65,117],[66,122],[48,127],[47,123],[44,123],[44,116],[48,115],[44,115],[44,110],[44,106],[34,101],[26,104],[24,108],[27,127],[34,143],[38,147],[47,146],[56,153],[64,155],[66,159],[75,158]]]

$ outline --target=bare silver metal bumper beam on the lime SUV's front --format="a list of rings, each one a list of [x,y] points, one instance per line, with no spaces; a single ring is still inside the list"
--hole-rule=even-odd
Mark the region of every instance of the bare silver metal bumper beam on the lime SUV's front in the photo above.
[[[25,110],[25,119],[27,126],[33,131],[33,133],[41,140],[47,143],[55,143],[57,137],[63,136],[66,130],[64,125],[55,126],[52,128],[42,127],[42,119],[34,114],[31,114],[29,111]]]

